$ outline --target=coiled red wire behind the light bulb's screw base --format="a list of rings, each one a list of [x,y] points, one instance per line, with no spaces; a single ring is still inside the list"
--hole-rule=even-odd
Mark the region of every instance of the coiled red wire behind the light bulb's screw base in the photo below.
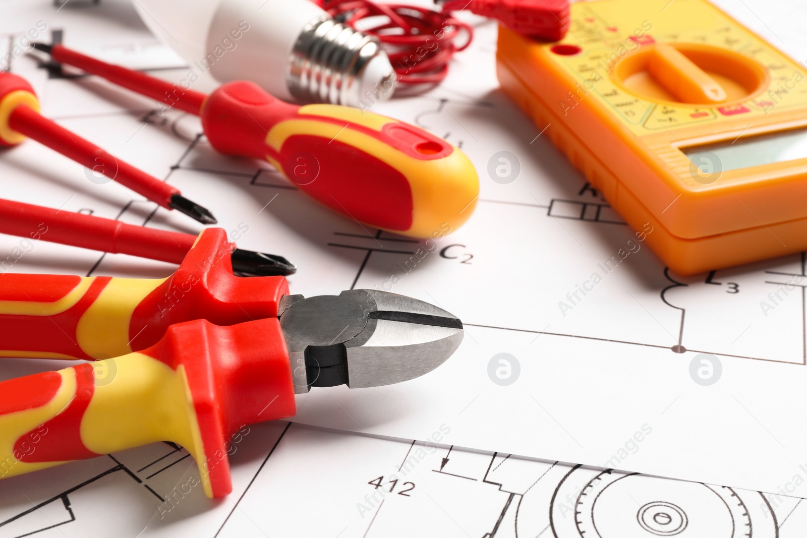
[[[447,2],[449,4],[462,3]],[[404,4],[381,4],[370,0],[319,0],[328,14],[350,27],[374,35],[383,44],[392,68],[403,84],[437,84],[445,79],[449,61],[465,49],[473,39],[470,24],[463,23],[447,12]],[[455,9],[461,9],[459,6]],[[380,17],[375,26],[362,19]],[[465,33],[464,43],[455,43]]]

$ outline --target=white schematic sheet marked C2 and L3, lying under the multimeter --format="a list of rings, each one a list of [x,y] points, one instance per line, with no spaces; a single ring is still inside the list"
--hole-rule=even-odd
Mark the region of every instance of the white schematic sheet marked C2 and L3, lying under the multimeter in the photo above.
[[[727,2],[745,23],[779,35],[780,46],[804,57],[792,23],[797,6],[740,4]],[[46,37],[61,31],[65,44],[162,77],[186,73],[169,69],[181,60],[144,31],[127,2],[6,2],[6,9],[0,53],[6,47],[14,56],[19,36],[41,20]],[[15,56],[12,70],[35,85],[44,112],[65,127],[211,207],[233,236],[248,227],[240,247],[294,261],[295,293],[378,287],[436,303],[466,323],[462,347],[433,373],[398,386],[312,391],[298,398],[295,420],[407,439],[428,439],[445,424],[446,444],[807,495],[803,257],[689,278],[667,273],[496,89],[495,26],[476,20],[475,44],[457,56],[445,84],[373,109],[444,136],[479,170],[475,215],[436,244],[366,230],[299,194],[270,165],[216,155],[188,115],[161,115],[147,99],[93,77],[63,78],[27,55]],[[204,80],[198,88],[212,86]],[[497,152],[516,156],[515,181],[491,178]],[[6,198],[130,223],[153,215],[148,226],[199,230],[114,182],[90,181],[81,166],[36,142],[4,150],[0,172]],[[0,237],[2,258],[20,245]],[[164,277],[173,269],[41,241],[23,247],[6,270]],[[625,260],[603,269],[620,249],[630,252]],[[601,282],[581,294],[578,286],[589,286],[593,273]],[[790,283],[797,289],[780,291]],[[763,309],[777,293],[774,307]],[[711,386],[690,373],[700,353],[720,361]],[[52,366],[5,364],[3,377]],[[512,384],[494,381],[502,382],[500,368],[509,369]]]

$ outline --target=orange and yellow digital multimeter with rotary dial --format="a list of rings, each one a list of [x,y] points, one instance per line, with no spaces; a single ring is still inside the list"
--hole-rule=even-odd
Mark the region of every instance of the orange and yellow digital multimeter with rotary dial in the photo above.
[[[805,69],[706,0],[571,5],[500,27],[504,91],[679,274],[807,249]]]

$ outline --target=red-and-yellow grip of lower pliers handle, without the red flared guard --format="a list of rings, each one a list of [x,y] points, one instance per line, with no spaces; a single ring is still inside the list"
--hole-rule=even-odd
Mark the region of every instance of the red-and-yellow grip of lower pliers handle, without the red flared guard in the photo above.
[[[160,440],[201,447],[182,368],[140,353],[0,383],[0,478]]]

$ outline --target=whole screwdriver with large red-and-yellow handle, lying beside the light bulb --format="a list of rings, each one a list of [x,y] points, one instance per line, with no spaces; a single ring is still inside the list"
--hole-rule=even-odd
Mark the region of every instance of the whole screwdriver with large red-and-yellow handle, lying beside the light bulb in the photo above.
[[[57,62],[201,116],[213,148],[268,160],[300,190],[358,222],[433,237],[456,230],[474,211],[474,165],[420,127],[346,106],[292,105],[249,81],[228,82],[206,95],[190,90],[190,83],[161,81],[61,44],[35,47]]]

